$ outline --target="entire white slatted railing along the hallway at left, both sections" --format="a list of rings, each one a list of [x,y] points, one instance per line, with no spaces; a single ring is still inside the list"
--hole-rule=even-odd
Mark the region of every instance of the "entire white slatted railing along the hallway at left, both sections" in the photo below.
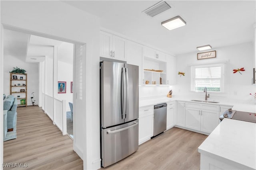
[[[66,135],[66,100],[61,101],[44,93],[42,93],[42,100],[42,109],[44,110],[44,113],[46,113],[48,117],[52,119],[53,124],[62,131],[62,135]]]

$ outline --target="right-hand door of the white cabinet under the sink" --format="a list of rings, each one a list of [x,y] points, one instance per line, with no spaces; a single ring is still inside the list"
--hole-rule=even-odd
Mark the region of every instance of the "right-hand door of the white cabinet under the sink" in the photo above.
[[[219,112],[202,109],[201,114],[201,131],[212,133],[219,124]]]

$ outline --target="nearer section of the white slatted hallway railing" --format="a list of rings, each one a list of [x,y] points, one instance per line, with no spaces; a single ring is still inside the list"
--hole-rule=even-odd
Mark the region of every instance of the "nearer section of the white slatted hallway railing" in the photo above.
[[[54,123],[63,135],[67,134],[66,100],[54,99]]]

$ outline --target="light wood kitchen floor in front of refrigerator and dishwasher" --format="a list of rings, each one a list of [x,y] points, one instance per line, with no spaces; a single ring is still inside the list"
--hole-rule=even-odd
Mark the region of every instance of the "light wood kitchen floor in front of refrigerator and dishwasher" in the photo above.
[[[199,170],[200,153],[197,148],[206,137],[173,127],[140,145],[134,154],[124,160],[102,169]]]

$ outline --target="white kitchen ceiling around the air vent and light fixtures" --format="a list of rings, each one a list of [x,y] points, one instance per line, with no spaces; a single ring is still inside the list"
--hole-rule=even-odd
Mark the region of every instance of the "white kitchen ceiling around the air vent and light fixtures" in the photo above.
[[[103,28],[170,54],[254,41],[255,1],[169,1],[171,9],[151,18],[143,10],[159,1],[63,1],[100,18]],[[186,26],[169,31],[161,22],[181,16]]]

